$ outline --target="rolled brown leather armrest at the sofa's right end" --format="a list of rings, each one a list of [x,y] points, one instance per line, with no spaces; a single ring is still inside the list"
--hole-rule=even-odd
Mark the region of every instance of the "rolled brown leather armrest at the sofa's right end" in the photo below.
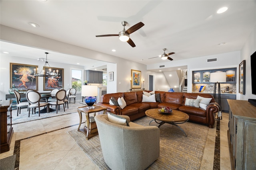
[[[215,115],[220,110],[220,106],[216,102],[212,102],[206,107],[206,120],[208,122],[208,127],[213,128],[215,123]]]

